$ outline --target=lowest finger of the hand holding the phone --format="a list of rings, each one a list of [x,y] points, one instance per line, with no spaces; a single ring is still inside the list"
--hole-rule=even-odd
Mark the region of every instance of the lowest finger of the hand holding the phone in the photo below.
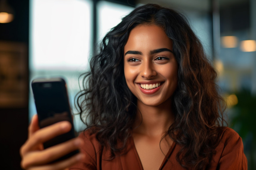
[[[68,159],[62,160],[60,162],[56,162],[53,164],[48,164],[48,165],[38,165],[35,167],[29,168],[29,170],[62,170],[65,169],[77,161],[81,161],[85,158],[85,155],[82,153],[78,153]],[[24,167],[23,167],[24,168]]]

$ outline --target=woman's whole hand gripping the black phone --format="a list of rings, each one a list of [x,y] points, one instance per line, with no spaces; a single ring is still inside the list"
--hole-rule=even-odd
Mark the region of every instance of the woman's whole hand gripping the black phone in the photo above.
[[[78,153],[68,159],[50,163],[73,150],[79,149],[83,143],[80,138],[74,138],[45,150],[43,149],[45,141],[66,133],[70,129],[71,124],[67,121],[58,122],[39,129],[38,117],[35,115],[28,129],[28,140],[20,148],[21,167],[29,170],[61,170],[83,159],[84,155]]]

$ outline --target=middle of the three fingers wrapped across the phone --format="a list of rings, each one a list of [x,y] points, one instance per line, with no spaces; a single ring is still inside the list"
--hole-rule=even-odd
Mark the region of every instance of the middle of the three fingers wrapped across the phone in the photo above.
[[[73,150],[79,149],[82,144],[82,139],[74,138],[42,151],[30,152],[24,156],[22,166],[27,168],[30,166],[50,163],[64,155],[67,155]]]

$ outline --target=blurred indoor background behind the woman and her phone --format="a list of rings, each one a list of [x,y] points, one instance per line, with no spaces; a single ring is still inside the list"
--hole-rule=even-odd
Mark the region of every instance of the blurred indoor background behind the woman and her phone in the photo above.
[[[19,148],[36,113],[30,83],[67,80],[70,102],[78,77],[113,26],[153,0],[0,0],[0,169],[21,169]],[[229,127],[243,139],[248,169],[256,169],[256,0],[159,0],[182,12],[218,71]],[[7,11],[5,11],[7,10]],[[5,17],[5,13],[10,14]],[[7,20],[5,20],[7,19]],[[5,23],[6,22],[6,23]],[[75,117],[76,131],[83,129]]]

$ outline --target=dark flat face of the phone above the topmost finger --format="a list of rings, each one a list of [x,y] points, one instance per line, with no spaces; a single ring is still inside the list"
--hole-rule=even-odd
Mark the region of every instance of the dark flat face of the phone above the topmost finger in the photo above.
[[[45,81],[32,84],[39,126],[43,128],[62,120],[71,121],[65,82]]]

